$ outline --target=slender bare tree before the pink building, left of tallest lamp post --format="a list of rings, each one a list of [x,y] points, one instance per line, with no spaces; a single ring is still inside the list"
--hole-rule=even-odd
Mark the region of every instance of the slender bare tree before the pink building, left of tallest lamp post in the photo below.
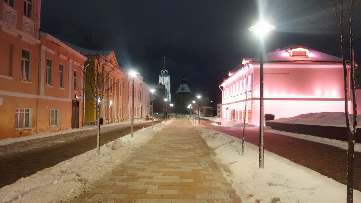
[[[246,126],[246,112],[252,109],[252,94],[257,89],[257,84],[259,84],[256,81],[256,78],[259,78],[255,75],[255,73],[252,72],[251,68],[249,66],[245,66],[243,68],[243,73],[238,76],[238,79],[241,83],[240,87],[242,87],[243,91],[243,97],[244,97],[244,113],[242,115],[243,117],[243,135],[242,135],[242,153],[243,156],[244,152],[244,130]],[[249,115],[248,115],[249,116]]]

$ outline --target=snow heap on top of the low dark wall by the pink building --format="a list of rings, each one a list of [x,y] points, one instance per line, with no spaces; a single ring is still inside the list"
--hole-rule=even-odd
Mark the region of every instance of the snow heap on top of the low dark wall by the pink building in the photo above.
[[[357,116],[360,117],[361,115]],[[352,125],[353,115],[350,114],[349,117]],[[276,120],[272,120],[272,122],[346,127],[346,118],[344,112],[306,113],[290,118],[278,118]]]

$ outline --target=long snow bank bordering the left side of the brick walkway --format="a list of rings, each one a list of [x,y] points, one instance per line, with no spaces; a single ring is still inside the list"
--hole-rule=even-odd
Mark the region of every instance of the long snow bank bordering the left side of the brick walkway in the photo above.
[[[173,121],[162,122],[154,128],[143,128],[109,142],[96,150],[75,156],[57,165],[21,178],[0,189],[1,202],[66,202],[89,190],[106,173],[112,172],[132,154],[147,144],[159,131]]]

